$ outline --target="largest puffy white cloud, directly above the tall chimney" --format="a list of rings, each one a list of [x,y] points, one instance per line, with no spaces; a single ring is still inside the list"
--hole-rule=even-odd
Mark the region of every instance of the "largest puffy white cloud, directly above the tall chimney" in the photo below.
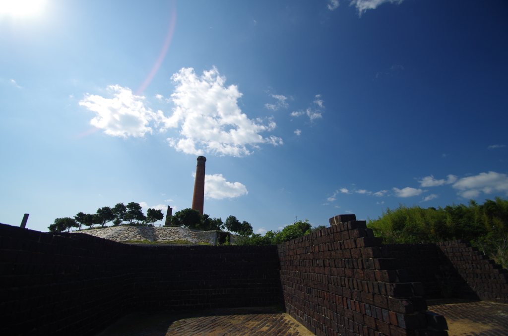
[[[202,76],[197,76],[192,68],[183,68],[172,79],[176,83],[171,95],[173,114],[169,118],[158,114],[157,121],[164,123],[162,130],[181,125],[180,137],[167,139],[176,150],[197,155],[208,152],[244,156],[251,154],[247,145],[283,144],[278,137],[259,135],[275,128],[275,122],[268,119],[268,125],[264,125],[260,119],[256,120],[259,123],[248,119],[237,104],[242,96],[238,87],[226,87],[226,78],[215,67]]]

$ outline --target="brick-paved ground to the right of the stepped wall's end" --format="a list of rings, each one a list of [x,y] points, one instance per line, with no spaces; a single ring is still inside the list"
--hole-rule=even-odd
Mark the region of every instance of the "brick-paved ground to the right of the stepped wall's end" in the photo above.
[[[508,305],[485,301],[429,301],[429,310],[444,315],[449,336],[508,335]]]

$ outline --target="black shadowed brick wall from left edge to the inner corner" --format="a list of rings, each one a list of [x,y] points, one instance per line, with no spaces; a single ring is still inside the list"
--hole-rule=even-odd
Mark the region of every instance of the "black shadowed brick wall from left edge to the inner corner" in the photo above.
[[[281,303],[275,246],[131,246],[0,225],[2,335],[86,335],[126,312]]]

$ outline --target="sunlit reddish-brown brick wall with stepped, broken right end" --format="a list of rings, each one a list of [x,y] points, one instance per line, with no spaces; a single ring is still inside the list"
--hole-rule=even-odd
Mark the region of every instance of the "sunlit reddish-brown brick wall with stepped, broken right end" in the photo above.
[[[330,224],[278,246],[291,316],[318,336],[447,334],[444,317],[426,313],[423,285],[407,282],[365,221]]]

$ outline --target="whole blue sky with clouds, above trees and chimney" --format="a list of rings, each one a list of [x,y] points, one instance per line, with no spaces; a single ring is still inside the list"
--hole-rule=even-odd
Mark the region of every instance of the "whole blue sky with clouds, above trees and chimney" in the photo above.
[[[261,233],[508,195],[505,1],[9,3],[2,223],[189,208],[198,155]]]

